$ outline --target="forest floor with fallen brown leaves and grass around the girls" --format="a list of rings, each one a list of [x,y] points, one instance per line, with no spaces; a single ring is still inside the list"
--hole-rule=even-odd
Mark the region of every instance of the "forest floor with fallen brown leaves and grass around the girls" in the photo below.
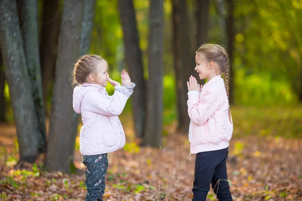
[[[227,161],[233,200],[302,200],[302,107],[234,108],[234,134]],[[195,155],[187,135],[164,126],[161,148],[138,147],[133,122],[121,122],[123,149],[109,153],[104,200],[191,200]],[[84,200],[85,175],[75,149],[78,174],[42,170],[43,156],[22,170],[14,125],[0,125],[0,200]],[[217,200],[212,189],[207,200]]]

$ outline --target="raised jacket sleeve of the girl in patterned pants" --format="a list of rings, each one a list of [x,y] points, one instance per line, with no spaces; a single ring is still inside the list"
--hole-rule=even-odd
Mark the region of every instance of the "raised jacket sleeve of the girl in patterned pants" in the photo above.
[[[90,112],[106,115],[118,116],[120,115],[127,103],[128,98],[133,92],[135,84],[131,86],[115,86],[113,95],[108,99],[100,94],[98,91],[88,91],[86,109]]]

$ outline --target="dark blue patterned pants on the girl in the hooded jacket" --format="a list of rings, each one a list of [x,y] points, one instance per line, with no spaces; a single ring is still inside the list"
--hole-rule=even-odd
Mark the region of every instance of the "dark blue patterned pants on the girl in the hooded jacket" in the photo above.
[[[103,201],[105,175],[108,168],[107,154],[82,156],[85,168],[85,201]]]

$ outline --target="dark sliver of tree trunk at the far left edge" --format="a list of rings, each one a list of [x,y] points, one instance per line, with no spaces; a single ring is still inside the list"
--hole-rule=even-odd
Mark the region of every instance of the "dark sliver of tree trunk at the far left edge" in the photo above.
[[[0,122],[6,122],[4,87],[5,87],[5,74],[4,74],[2,53],[0,48]]]

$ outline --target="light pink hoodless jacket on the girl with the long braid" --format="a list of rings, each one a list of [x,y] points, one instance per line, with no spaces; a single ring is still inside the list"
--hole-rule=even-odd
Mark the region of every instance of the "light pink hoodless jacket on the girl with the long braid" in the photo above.
[[[191,119],[190,154],[229,147],[233,122],[229,118],[229,100],[221,76],[210,79],[200,93],[189,91],[187,104]]]

